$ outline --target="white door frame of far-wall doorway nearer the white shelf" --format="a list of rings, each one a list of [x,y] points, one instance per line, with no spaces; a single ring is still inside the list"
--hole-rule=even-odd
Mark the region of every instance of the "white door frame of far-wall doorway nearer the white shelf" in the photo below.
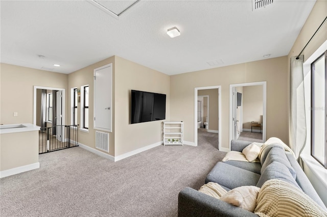
[[[198,146],[198,90],[218,89],[218,150],[221,150],[221,86],[208,86],[194,88],[194,145]]]

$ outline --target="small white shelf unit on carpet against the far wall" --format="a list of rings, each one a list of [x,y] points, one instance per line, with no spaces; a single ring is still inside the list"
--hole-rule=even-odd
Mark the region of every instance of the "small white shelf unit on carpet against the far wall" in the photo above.
[[[165,145],[183,145],[183,127],[182,121],[178,122],[164,122],[164,146]],[[171,140],[170,142],[168,140]],[[178,142],[172,142],[178,140]]]

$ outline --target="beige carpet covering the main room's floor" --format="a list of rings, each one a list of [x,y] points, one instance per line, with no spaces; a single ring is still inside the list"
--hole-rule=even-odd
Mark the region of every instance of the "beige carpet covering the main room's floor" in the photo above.
[[[41,154],[40,169],[0,179],[0,216],[177,216],[179,191],[198,189],[226,154],[209,140],[118,162],[80,147]]]

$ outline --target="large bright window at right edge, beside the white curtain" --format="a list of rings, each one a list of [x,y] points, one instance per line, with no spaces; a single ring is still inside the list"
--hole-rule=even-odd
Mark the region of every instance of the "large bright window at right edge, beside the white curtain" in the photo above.
[[[327,168],[327,50],[311,64],[311,155]]]

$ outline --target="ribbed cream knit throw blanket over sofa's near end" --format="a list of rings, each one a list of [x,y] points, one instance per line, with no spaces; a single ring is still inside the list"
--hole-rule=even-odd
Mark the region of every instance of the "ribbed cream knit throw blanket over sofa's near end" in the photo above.
[[[316,202],[294,185],[278,179],[264,183],[256,198],[255,214],[272,216],[327,216]]]

